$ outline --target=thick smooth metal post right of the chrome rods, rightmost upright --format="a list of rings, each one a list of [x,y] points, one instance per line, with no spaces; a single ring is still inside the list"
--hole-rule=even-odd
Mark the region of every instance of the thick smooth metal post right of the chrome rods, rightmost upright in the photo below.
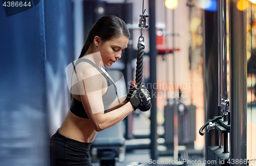
[[[246,10],[238,10],[238,1],[230,1],[230,158],[244,160],[246,159],[247,121],[247,30]]]

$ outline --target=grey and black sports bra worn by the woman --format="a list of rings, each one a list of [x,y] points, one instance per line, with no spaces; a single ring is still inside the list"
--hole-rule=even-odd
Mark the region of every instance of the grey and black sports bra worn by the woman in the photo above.
[[[115,101],[116,96],[117,96],[117,88],[116,88],[115,83],[92,61],[90,61],[88,59],[81,59],[79,63],[81,63],[81,62],[90,63],[106,78],[106,81],[108,82],[108,89],[102,95],[102,101],[103,101],[103,105],[104,105],[104,113],[108,113],[109,106],[113,103],[113,101]],[[86,111],[83,108],[82,102],[76,100],[74,97],[72,97],[72,100],[71,100],[70,111],[78,117],[89,119],[88,115],[86,114]]]

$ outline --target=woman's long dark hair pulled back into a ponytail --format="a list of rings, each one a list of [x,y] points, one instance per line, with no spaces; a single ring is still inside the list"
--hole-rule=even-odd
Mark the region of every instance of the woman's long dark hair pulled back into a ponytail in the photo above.
[[[114,15],[101,17],[91,28],[79,58],[87,52],[88,48],[93,43],[95,36],[100,37],[102,41],[107,41],[121,35],[130,38],[130,32],[122,19]]]

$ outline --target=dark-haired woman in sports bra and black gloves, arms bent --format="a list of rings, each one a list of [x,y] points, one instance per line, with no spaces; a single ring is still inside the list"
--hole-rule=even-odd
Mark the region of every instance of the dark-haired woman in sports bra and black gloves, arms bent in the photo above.
[[[132,87],[127,97],[116,99],[115,83],[104,70],[103,64],[121,58],[129,38],[126,24],[116,16],[101,17],[90,30],[74,67],[70,110],[50,140],[51,165],[92,165],[89,148],[97,132],[151,99],[144,87]]]

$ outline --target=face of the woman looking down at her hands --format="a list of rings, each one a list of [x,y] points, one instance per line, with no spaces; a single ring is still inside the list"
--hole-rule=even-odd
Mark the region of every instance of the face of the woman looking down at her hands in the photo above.
[[[112,40],[104,41],[100,40],[98,44],[98,51],[100,51],[103,64],[111,66],[118,59],[121,58],[121,53],[127,47],[129,38],[121,35]]]

